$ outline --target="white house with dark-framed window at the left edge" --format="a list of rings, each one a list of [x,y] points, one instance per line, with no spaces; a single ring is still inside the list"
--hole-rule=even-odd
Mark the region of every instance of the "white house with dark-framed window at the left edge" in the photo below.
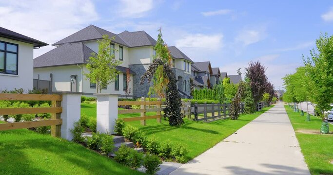
[[[47,45],[0,27],[0,90],[32,90],[34,49]]]

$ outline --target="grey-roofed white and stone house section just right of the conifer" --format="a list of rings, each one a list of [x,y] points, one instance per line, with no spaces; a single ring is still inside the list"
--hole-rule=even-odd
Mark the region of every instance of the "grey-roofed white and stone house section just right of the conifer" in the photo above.
[[[168,47],[172,57],[172,70],[176,75],[177,88],[182,98],[191,98],[191,72],[194,63],[187,55],[176,46]]]

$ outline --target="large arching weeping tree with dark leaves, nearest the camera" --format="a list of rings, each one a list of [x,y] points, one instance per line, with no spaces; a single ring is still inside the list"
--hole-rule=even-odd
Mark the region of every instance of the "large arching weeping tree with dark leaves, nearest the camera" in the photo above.
[[[181,99],[176,86],[176,76],[170,66],[160,58],[154,59],[153,64],[151,64],[148,70],[142,75],[140,84],[142,85],[146,78],[148,79],[148,83],[150,83],[156,70],[161,66],[163,67],[163,72],[169,79],[166,88],[164,118],[168,119],[169,124],[172,126],[181,125],[184,123],[183,114],[180,109]]]

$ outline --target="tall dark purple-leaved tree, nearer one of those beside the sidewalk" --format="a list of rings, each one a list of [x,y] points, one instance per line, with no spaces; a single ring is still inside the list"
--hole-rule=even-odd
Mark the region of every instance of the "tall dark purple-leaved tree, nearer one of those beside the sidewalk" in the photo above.
[[[255,104],[259,102],[265,93],[267,85],[266,68],[259,62],[250,62],[249,67],[245,68],[245,76],[250,80],[252,95]]]

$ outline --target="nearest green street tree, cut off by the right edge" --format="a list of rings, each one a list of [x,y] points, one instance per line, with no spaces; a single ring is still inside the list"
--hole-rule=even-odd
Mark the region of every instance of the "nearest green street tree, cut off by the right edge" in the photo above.
[[[325,121],[323,111],[331,110],[330,104],[333,102],[333,36],[320,35],[316,46],[317,52],[314,49],[310,51],[311,58],[304,59],[304,64],[313,88],[310,99],[316,104],[316,111],[322,111],[321,116]]]

